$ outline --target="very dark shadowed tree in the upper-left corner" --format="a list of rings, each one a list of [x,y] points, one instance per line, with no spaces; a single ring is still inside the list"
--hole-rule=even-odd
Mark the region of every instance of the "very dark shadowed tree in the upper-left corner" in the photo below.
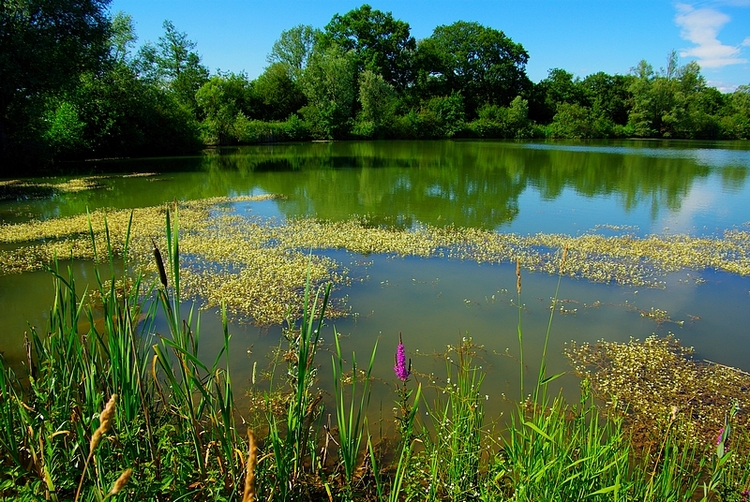
[[[82,70],[100,66],[107,53],[108,4],[109,0],[0,2],[3,174],[9,174],[16,161],[44,155],[36,122],[47,95],[72,88]]]

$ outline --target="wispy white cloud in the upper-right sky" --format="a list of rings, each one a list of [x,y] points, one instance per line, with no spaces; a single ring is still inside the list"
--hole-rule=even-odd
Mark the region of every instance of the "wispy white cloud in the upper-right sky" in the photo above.
[[[711,8],[696,9],[688,4],[677,4],[675,22],[681,28],[680,36],[695,44],[680,52],[681,57],[695,57],[703,68],[722,68],[733,64],[747,63],[741,56],[741,47],[750,45],[750,37],[739,46],[724,45],[719,31],[731,18]]]

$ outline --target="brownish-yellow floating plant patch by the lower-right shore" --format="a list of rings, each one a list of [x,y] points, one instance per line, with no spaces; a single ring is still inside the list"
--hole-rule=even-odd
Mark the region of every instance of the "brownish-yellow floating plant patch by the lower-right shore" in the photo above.
[[[750,374],[693,359],[693,349],[672,336],[627,343],[571,342],[565,353],[576,373],[590,383],[610,416],[622,416],[636,444],[654,451],[671,428],[686,442],[715,447],[732,408],[734,425],[746,428]],[[743,441],[744,440],[744,441]],[[748,438],[736,435],[732,448],[750,453]]]

